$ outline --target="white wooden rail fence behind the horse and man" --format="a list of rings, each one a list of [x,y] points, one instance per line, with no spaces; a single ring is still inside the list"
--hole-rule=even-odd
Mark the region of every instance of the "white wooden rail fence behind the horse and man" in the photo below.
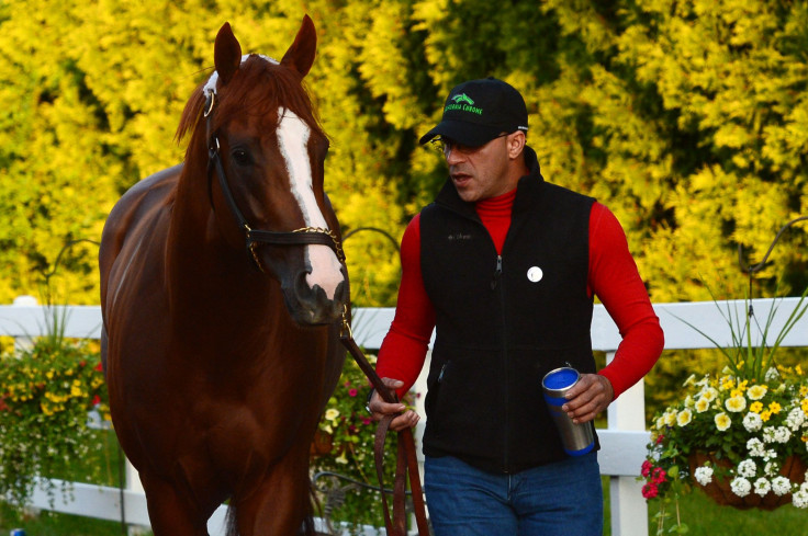
[[[755,316],[765,320],[772,307],[776,315],[772,332],[777,332],[794,309],[798,298],[755,299]],[[683,304],[654,305],[665,331],[665,350],[708,349],[712,343],[699,334],[684,321],[698,326],[702,331],[722,345],[732,342],[725,315],[729,309],[732,316],[743,318],[743,300],[699,301]],[[393,318],[392,308],[359,309],[354,316],[354,335],[357,342],[367,349],[378,349],[388,332]],[[11,335],[19,341],[36,337],[46,329],[46,310],[32,299],[18,299],[15,305],[0,306],[0,335]],[[67,307],[66,335],[86,339],[98,339],[101,331],[101,312],[94,306]],[[759,337],[759,334],[755,334]],[[620,342],[616,326],[603,306],[595,306],[592,323],[592,342],[595,350],[604,351],[607,361]],[[783,341],[785,346],[808,346],[808,316],[804,317]],[[662,358],[665,358],[663,354]],[[415,385],[415,389],[425,392],[425,374]],[[538,388],[538,386],[537,386]],[[419,400],[423,403],[423,398]],[[420,408],[423,415],[423,408]],[[598,430],[602,449],[598,453],[602,475],[610,480],[611,497],[611,534],[614,536],[648,536],[648,508],[640,493],[641,483],[637,481],[640,465],[646,456],[646,444],[649,432],[644,420],[644,390],[640,383],[622,394],[608,409],[608,426]],[[416,435],[423,433],[423,419]],[[127,489],[123,493],[126,522],[132,525],[148,526],[146,500],[139,488],[137,478],[127,474]],[[116,521],[121,518],[121,492],[115,488],[76,483],[72,498],[58,499],[50,505],[47,495],[37,491],[33,499],[34,506],[89,517]],[[209,522],[211,536],[223,535],[224,508]],[[383,533],[383,531],[382,531]],[[375,534],[369,532],[369,534]]]

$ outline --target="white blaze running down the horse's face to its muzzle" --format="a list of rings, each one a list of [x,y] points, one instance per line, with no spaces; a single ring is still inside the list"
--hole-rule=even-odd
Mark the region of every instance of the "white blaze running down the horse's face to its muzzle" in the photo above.
[[[289,172],[289,184],[292,195],[303,213],[307,227],[327,229],[328,224],[317,206],[312,189],[312,166],[308,160],[308,125],[298,117],[291,110],[278,110],[278,147]],[[327,246],[306,246],[306,256],[311,272],[306,275],[306,283],[311,288],[319,286],[328,297],[334,299],[337,286],[345,281],[337,255]]]

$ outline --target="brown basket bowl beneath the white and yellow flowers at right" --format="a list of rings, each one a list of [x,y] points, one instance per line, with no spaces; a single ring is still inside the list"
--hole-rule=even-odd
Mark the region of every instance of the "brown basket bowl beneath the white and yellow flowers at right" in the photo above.
[[[733,466],[726,458],[719,459],[712,454],[697,452],[692,454],[687,461],[693,476],[693,483],[718,504],[738,510],[775,510],[784,504],[792,503],[792,492],[786,487],[778,488],[771,483],[766,487],[750,484],[751,488],[745,490],[743,486],[737,484],[733,490],[732,480],[726,477],[733,469]],[[695,477],[696,470],[703,467],[711,468],[715,472],[710,481],[706,483],[702,483]],[[808,470],[808,467],[798,456],[788,456],[783,461],[778,474],[781,477],[788,479],[792,484],[801,484],[805,482],[806,470]],[[702,477],[702,479],[706,481],[706,478]]]

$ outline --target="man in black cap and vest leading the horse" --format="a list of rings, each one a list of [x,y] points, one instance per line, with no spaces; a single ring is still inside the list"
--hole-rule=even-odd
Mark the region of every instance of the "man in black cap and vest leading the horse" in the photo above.
[[[427,379],[425,491],[437,536],[602,534],[597,455],[568,456],[541,392],[581,374],[562,409],[588,423],[659,358],[663,334],[626,236],[595,199],[545,182],[525,101],[489,78],[451,90],[436,139],[449,180],[402,239],[395,318],[377,370],[399,395],[435,346]],[[593,297],[622,341],[595,374]],[[374,419],[418,415],[373,394]]]

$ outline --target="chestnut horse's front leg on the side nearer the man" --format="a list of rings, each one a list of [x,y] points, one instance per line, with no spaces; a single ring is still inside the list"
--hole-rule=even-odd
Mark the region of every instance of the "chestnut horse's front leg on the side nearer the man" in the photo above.
[[[304,521],[312,513],[308,451],[287,456],[269,468],[248,497],[234,498],[239,536],[306,534]]]

